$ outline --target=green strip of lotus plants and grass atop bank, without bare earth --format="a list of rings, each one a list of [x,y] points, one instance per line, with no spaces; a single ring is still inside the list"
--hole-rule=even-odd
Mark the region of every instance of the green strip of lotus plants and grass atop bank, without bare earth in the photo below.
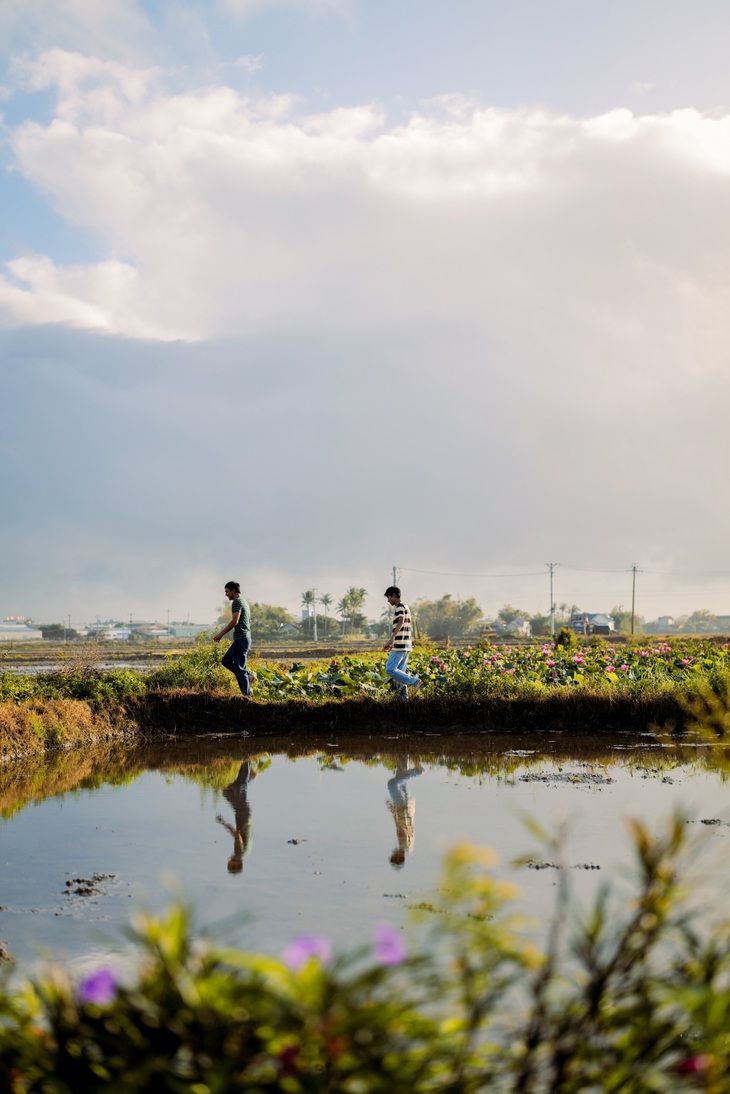
[[[117,701],[146,690],[184,688],[197,691],[235,691],[235,682],[220,661],[225,641],[213,643],[200,636],[195,647],[169,654],[165,663],[148,674],[129,670],[102,673],[69,667],[56,673],[23,676],[0,673],[0,701],[73,698],[90,702]],[[280,662],[252,660],[256,673],[254,698],[325,699],[370,696],[390,699],[385,655],[364,653],[332,661]],[[489,644],[443,649],[418,642],[408,661],[421,678],[422,695],[460,699],[505,696],[538,698],[560,688],[594,691],[622,690],[648,696],[670,689],[684,699],[707,685],[721,691],[730,673],[730,643],[703,638],[613,643],[591,638],[580,641],[561,628],[555,644]],[[718,690],[719,689],[719,690]]]

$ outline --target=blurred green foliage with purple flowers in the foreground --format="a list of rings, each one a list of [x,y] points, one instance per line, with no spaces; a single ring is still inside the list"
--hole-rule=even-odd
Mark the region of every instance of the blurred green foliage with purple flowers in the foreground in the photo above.
[[[139,916],[124,982],[105,968],[3,981],[0,1090],[723,1094],[730,924],[687,912],[683,817],[633,833],[630,904],[604,889],[568,929],[563,871],[544,953],[510,917],[491,856],[467,845],[413,910],[408,952],[381,928],[349,954],[310,936],[277,959],[195,940],[179,907]]]

